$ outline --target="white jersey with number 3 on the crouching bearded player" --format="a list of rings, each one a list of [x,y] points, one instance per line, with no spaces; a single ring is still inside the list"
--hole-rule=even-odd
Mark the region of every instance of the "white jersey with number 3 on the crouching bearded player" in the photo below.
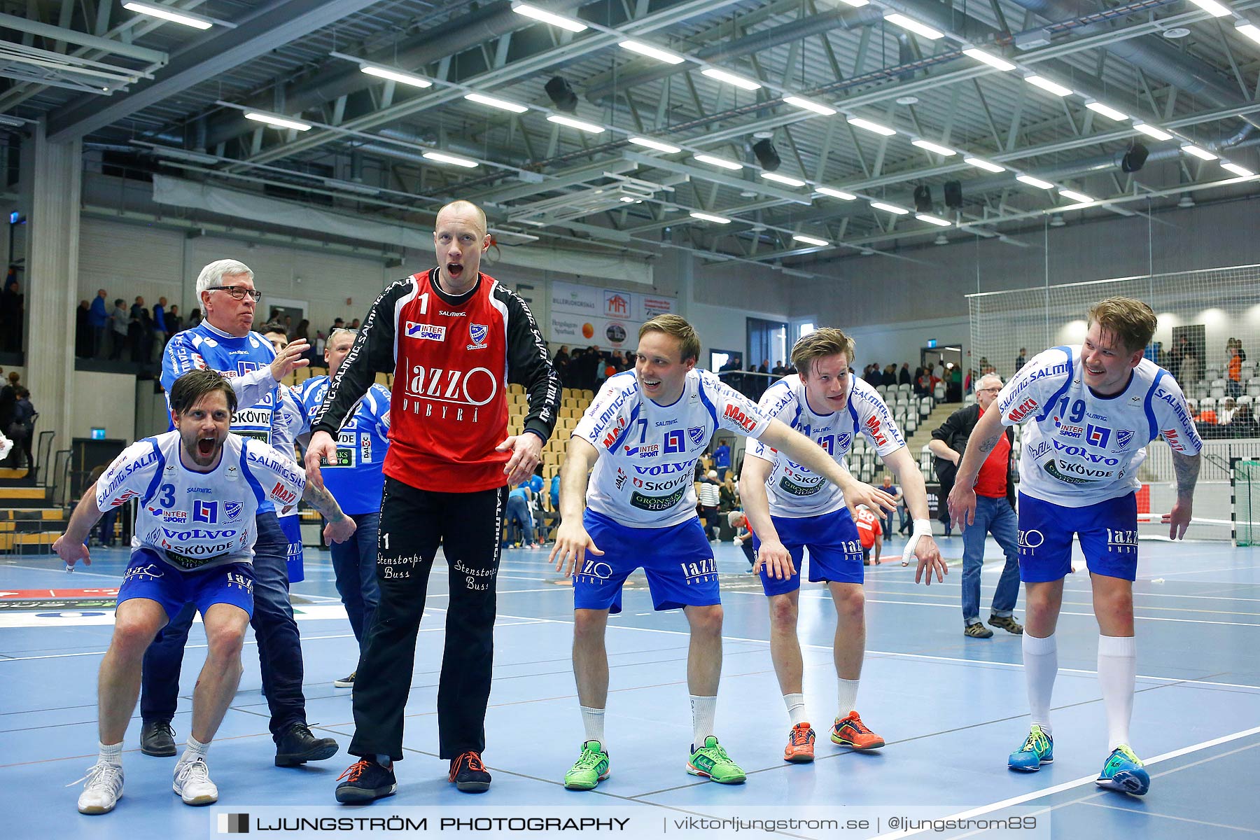
[[[132,548],[147,548],[178,569],[248,563],[263,501],[297,504],[306,476],[266,443],[228,434],[219,463],[195,472],[179,460],[178,431],[136,441],[96,484],[96,506],[139,499]]]

